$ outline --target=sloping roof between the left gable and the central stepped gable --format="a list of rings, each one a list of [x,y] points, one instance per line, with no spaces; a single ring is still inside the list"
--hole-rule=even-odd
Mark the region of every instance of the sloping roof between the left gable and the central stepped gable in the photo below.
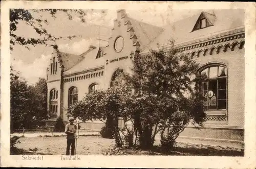
[[[77,63],[75,66],[65,71],[65,74],[71,74],[77,71],[85,70],[85,69],[91,68],[92,65],[93,67],[104,65],[105,63],[104,57],[96,59],[98,51],[99,51],[99,47],[96,47],[95,49],[90,49],[86,53],[83,53],[82,56],[80,56],[80,57],[83,57],[83,59],[80,60],[80,62]]]

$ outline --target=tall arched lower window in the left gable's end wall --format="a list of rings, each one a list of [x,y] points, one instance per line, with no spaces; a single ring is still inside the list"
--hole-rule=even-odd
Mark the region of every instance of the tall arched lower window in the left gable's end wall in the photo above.
[[[57,118],[58,112],[58,90],[50,91],[50,117]]]

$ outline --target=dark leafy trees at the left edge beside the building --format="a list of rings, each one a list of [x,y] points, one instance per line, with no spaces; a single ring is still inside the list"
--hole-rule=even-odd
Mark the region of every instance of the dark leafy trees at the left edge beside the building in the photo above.
[[[11,67],[11,132],[45,125],[47,118],[47,83],[39,79],[28,85]]]

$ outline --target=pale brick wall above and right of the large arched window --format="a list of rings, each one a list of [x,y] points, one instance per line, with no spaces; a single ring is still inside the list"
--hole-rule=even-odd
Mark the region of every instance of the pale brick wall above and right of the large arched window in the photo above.
[[[212,55],[199,56],[195,60],[204,65],[209,62],[222,62],[228,67],[228,125],[244,126],[245,59],[244,48],[234,51],[214,52]]]

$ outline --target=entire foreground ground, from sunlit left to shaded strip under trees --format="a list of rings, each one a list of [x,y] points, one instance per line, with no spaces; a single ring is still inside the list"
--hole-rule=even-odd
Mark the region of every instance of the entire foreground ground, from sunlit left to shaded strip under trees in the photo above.
[[[25,154],[65,155],[67,139],[65,136],[20,137],[19,149]],[[243,149],[204,146],[203,144],[177,143],[172,152],[164,152],[159,148],[160,140],[156,140],[151,151],[113,149],[114,139],[101,136],[80,136],[77,139],[77,155],[201,155],[201,156],[244,156]],[[113,154],[113,152],[116,152]]]

